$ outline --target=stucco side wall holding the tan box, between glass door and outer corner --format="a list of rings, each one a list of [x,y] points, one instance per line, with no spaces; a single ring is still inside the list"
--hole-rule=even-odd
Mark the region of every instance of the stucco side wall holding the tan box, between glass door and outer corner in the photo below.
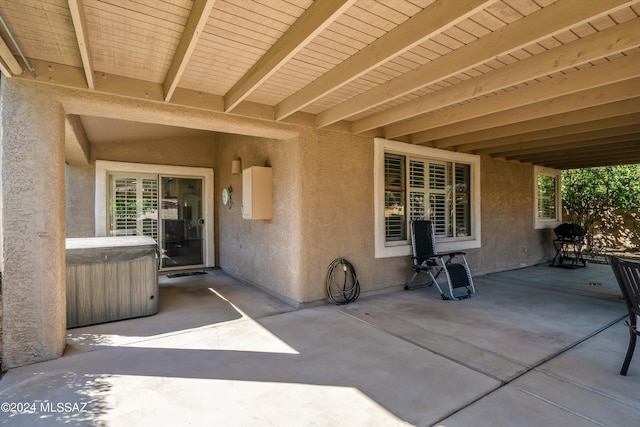
[[[303,300],[300,281],[299,226],[301,165],[305,138],[278,141],[221,134],[216,152],[216,235],[219,265],[227,273],[277,294],[293,305]],[[242,218],[242,175],[231,174],[231,162],[242,168],[270,166],[273,173],[273,219]],[[232,187],[231,209],[219,202],[223,188]]]

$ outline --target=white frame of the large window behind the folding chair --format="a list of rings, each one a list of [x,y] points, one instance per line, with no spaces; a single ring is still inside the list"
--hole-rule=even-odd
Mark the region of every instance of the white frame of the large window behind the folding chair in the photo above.
[[[480,218],[480,156],[474,154],[456,153],[439,150],[437,148],[406,144],[384,138],[374,139],[373,153],[373,206],[374,206],[374,234],[375,257],[389,258],[411,255],[411,242],[386,242],[384,218],[384,154],[385,152],[405,156],[418,156],[445,162],[463,162],[471,166],[471,236],[437,239],[440,252],[457,251],[479,248],[481,239]]]

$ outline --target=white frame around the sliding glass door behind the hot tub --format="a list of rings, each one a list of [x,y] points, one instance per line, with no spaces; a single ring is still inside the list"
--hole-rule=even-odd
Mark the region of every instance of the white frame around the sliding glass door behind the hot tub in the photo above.
[[[114,162],[96,160],[96,194],[95,194],[95,233],[96,237],[105,237],[109,229],[109,175],[116,174],[149,174],[198,177],[203,179],[202,197],[205,220],[205,267],[215,267],[214,247],[214,181],[213,169],[188,166],[169,166],[146,163]]]

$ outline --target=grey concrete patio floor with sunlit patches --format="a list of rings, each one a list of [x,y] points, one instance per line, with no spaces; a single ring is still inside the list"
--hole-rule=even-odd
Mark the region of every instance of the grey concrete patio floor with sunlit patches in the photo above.
[[[619,375],[628,331],[607,265],[479,276],[458,302],[422,288],[301,310],[218,270],[160,283],[157,315],[71,329],[63,357],[7,372],[0,402],[28,407],[1,424],[640,420],[640,354]]]

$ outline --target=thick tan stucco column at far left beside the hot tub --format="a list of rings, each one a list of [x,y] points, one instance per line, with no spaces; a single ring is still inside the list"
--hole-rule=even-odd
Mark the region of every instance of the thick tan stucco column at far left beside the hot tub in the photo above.
[[[2,78],[2,367],[66,345],[64,114],[46,86]]]

